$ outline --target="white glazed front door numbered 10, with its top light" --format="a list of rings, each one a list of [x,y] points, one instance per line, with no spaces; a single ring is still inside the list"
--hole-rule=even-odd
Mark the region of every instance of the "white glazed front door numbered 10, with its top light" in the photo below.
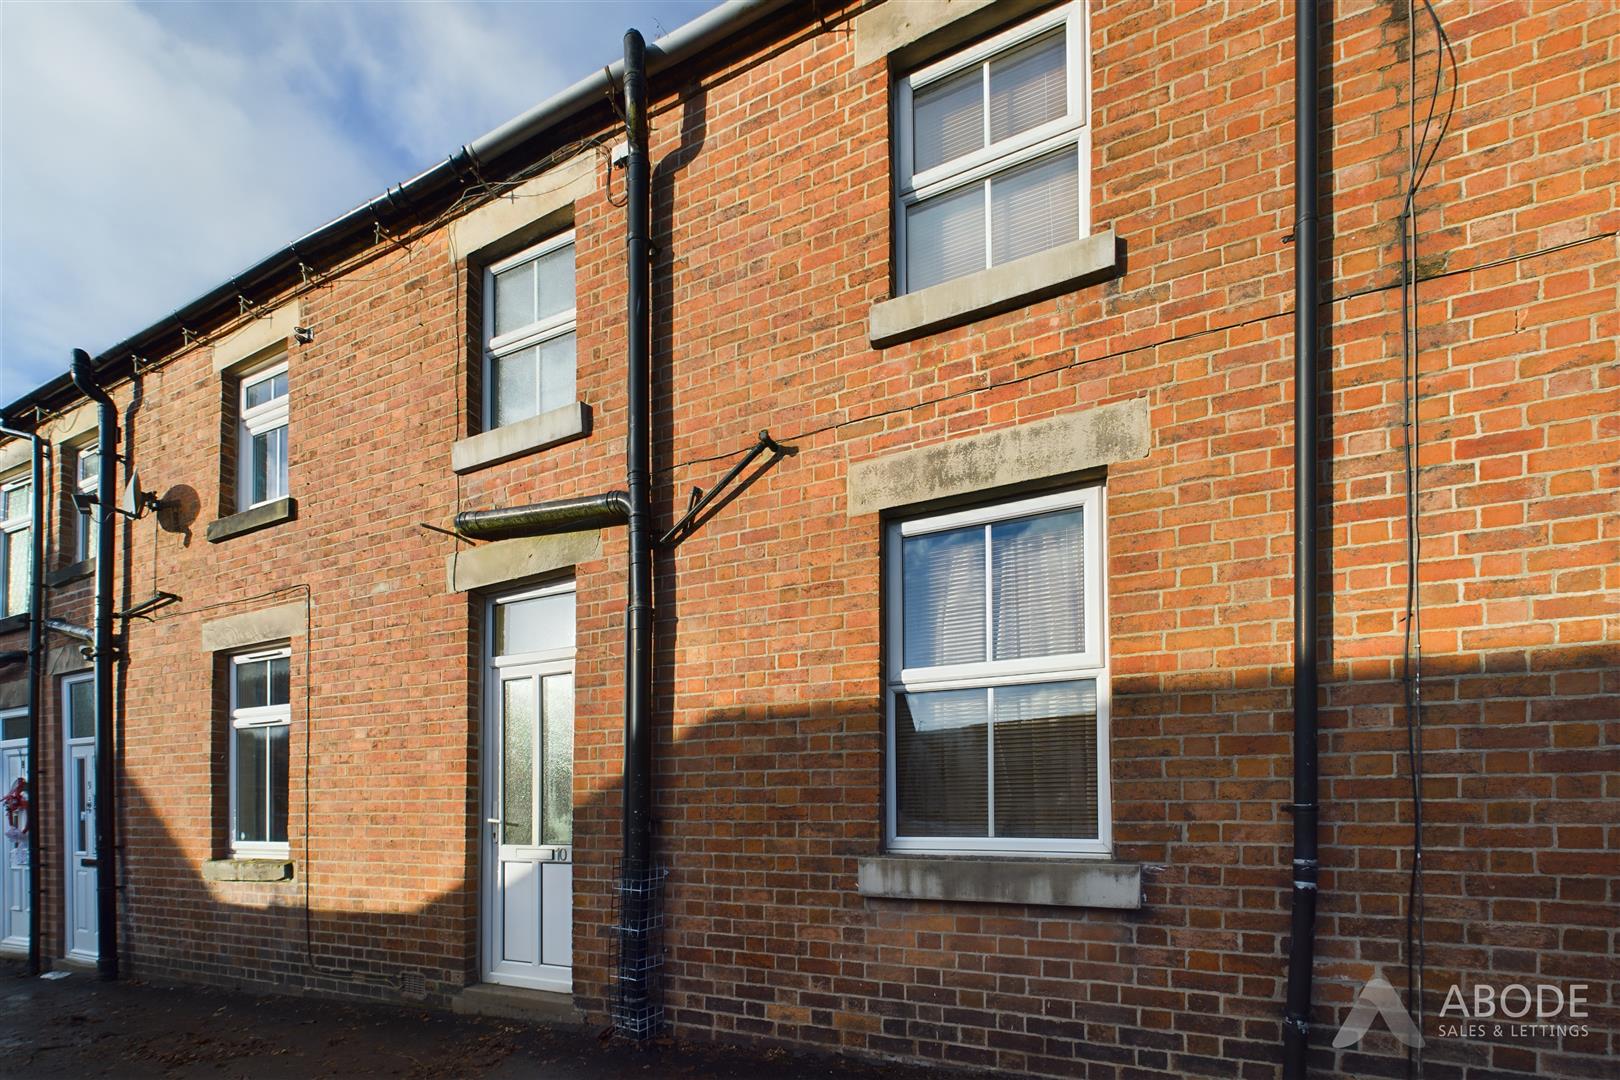
[[[491,604],[484,980],[573,988],[573,585]]]

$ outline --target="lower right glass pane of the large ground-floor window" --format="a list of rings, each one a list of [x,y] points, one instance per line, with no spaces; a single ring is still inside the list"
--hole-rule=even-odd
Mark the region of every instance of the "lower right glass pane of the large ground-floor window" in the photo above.
[[[996,836],[1097,836],[1097,682],[995,690]]]

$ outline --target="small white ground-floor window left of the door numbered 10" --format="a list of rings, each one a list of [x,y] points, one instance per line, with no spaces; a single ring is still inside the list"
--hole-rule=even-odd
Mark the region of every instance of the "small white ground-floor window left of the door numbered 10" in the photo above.
[[[287,761],[292,651],[230,657],[230,850],[287,857]]]

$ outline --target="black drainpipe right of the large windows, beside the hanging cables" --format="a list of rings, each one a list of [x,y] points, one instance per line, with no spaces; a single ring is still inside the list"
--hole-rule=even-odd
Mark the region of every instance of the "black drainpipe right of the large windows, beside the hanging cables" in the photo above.
[[[1294,8],[1294,894],[1283,1077],[1304,1080],[1317,902],[1317,5]]]

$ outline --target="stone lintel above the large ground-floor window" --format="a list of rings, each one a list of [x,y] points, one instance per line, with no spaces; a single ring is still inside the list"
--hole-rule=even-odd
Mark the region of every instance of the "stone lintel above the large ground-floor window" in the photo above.
[[[962,436],[849,466],[849,517],[974,495],[1144,458],[1152,450],[1147,398],[1082,408]]]

